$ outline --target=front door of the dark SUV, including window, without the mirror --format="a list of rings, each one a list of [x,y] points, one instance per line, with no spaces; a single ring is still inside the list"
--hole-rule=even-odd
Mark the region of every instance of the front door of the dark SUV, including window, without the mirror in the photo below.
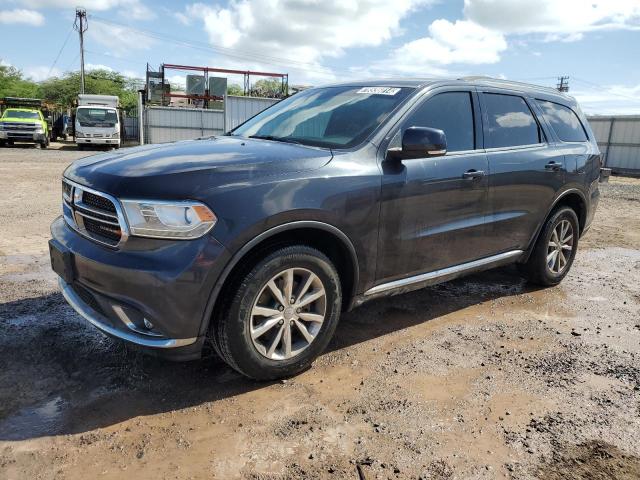
[[[465,263],[486,254],[487,158],[474,89],[436,90],[400,122],[447,137],[446,155],[383,161],[376,281]]]

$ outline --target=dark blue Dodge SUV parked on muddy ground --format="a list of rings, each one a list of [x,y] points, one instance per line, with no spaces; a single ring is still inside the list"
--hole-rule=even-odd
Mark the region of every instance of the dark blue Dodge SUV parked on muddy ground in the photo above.
[[[284,377],[368,299],[509,263],[557,284],[600,168],[575,100],[552,89],[315,88],[224,136],[73,163],[51,262],[108,335],[180,360],[210,342],[245,375]]]

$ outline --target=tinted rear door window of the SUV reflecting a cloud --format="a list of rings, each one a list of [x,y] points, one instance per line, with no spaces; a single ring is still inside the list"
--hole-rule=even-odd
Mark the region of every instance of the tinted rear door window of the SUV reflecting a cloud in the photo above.
[[[487,148],[532,145],[540,142],[540,131],[527,102],[515,95],[485,93],[488,124]]]

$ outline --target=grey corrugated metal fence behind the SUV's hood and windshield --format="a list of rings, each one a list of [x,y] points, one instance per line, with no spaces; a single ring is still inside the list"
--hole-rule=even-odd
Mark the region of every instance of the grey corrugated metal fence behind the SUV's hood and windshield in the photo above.
[[[146,107],[146,143],[166,143],[210,135],[221,135],[260,113],[279,100],[255,97],[227,97],[226,110],[180,107]],[[125,119],[125,131],[135,131],[136,117]],[[127,137],[129,135],[127,134]]]

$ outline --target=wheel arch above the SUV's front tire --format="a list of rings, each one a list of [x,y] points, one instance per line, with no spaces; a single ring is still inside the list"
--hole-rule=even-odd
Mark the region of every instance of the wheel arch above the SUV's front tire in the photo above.
[[[304,220],[284,223],[257,235],[245,243],[229,260],[209,296],[200,326],[200,335],[209,329],[220,293],[247,262],[286,245],[308,245],[321,251],[334,263],[340,275],[343,309],[351,306],[359,281],[359,263],[355,247],[339,228],[325,222]]]

